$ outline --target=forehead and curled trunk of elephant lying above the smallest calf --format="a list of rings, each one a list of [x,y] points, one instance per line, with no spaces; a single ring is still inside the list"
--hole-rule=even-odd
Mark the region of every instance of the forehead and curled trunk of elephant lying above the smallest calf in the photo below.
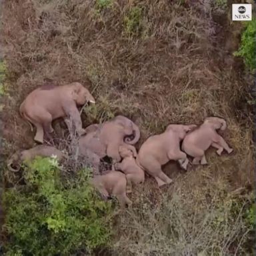
[[[125,139],[124,139],[125,143],[127,143],[129,145],[134,145],[135,143],[137,143],[139,141],[139,138],[141,137],[141,132],[139,131],[139,127],[137,125],[135,125],[135,123],[133,123],[133,121],[131,121],[127,117],[124,117],[123,115],[117,115],[117,117],[113,118],[113,121],[115,123],[119,123],[119,124],[123,125],[124,127],[127,127],[128,129],[130,127],[132,128],[133,134],[125,137]],[[132,139],[131,139],[131,136],[133,136]]]

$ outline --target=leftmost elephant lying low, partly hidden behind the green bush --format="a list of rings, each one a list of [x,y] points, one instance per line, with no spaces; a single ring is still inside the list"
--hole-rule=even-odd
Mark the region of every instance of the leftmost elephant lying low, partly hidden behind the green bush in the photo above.
[[[17,152],[7,160],[7,167],[10,171],[17,172],[19,171],[23,161],[29,161],[35,159],[35,157],[51,157],[55,155],[57,160],[61,161],[62,159],[67,158],[65,153],[62,153],[59,149],[47,145],[37,145],[31,149],[23,150]]]

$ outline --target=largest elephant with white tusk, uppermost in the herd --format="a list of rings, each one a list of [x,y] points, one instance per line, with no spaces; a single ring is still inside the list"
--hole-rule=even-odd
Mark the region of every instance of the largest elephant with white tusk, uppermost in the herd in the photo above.
[[[35,125],[35,141],[43,143],[44,133],[49,136],[53,132],[51,122],[59,117],[69,117],[77,133],[83,135],[85,130],[77,105],[84,105],[87,101],[95,103],[91,93],[81,83],[45,85],[27,95],[19,112],[24,119]],[[67,125],[70,127],[70,123]]]

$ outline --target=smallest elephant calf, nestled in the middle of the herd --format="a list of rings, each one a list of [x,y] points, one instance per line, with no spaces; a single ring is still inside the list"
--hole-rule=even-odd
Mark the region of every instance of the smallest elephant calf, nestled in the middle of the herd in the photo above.
[[[134,148],[135,152],[136,149]],[[127,179],[127,193],[131,193],[131,184],[144,183],[145,173],[139,165],[137,165],[134,157],[137,154],[134,154],[131,149],[126,146],[119,147],[119,154],[123,158],[121,163],[115,163],[115,169],[123,171]]]

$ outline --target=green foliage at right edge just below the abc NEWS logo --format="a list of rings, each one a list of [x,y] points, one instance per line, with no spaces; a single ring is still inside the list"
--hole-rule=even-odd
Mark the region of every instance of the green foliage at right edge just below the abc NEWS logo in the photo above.
[[[241,38],[239,50],[235,56],[243,57],[246,67],[250,71],[256,69],[256,19],[249,21]]]

